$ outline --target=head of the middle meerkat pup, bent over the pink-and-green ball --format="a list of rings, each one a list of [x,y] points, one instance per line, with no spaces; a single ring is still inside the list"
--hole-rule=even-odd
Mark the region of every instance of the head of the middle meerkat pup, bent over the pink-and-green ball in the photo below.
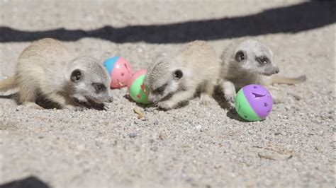
[[[176,93],[179,90],[179,80],[183,76],[183,71],[173,59],[157,57],[145,79],[145,84],[150,88],[148,100],[158,102],[167,95]]]

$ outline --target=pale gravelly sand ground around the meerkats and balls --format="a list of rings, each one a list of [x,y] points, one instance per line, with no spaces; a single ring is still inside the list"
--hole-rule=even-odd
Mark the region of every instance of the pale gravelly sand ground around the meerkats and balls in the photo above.
[[[271,8],[301,3],[258,1],[255,6],[255,1],[2,0],[0,13],[2,27],[24,32],[59,28],[89,31],[128,25],[140,25],[141,31],[146,25],[237,17],[244,20]],[[335,16],[335,3],[329,8],[318,12],[333,11]],[[313,25],[314,21],[301,20],[298,25]],[[252,30],[251,25],[237,29],[232,22],[233,30],[230,24],[220,28],[223,33]],[[0,98],[0,184],[33,176],[50,187],[333,187],[335,23],[286,33],[267,33],[279,27],[281,30],[279,23],[269,28],[259,24],[252,25],[257,28],[254,31],[265,32],[250,34],[273,49],[281,74],[308,76],[297,86],[275,86],[283,102],[274,105],[263,122],[240,121],[237,114],[222,108],[223,98],[212,100],[208,107],[195,98],[186,107],[168,112],[140,107],[145,117],[138,119],[133,112],[138,106],[124,98],[125,88],[112,91],[115,101],[107,111],[30,110]],[[185,30],[183,27],[179,29]],[[120,55],[134,69],[146,68],[156,54],[169,54],[186,42],[184,38],[189,39],[177,30],[172,31],[176,36],[139,33],[144,38],[141,40],[133,29],[118,33],[118,40],[106,40],[109,34],[104,30],[101,38],[71,40],[78,35],[62,33],[64,30],[51,35],[64,37],[67,47],[77,55],[91,55],[102,62]],[[199,39],[208,40],[220,54],[230,36],[216,37],[218,33],[206,32],[198,30],[202,33]],[[4,28],[1,35],[3,79],[13,74],[16,59],[30,44],[29,39],[45,35],[5,35]],[[13,41],[4,42],[9,38]],[[21,38],[26,40],[18,40]],[[174,38],[182,40],[172,42]]]

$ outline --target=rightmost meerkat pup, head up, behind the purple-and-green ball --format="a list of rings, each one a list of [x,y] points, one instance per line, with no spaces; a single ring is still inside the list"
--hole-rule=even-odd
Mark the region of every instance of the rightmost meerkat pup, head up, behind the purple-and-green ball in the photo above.
[[[275,75],[279,68],[273,57],[271,49],[257,40],[247,39],[228,45],[221,57],[223,65],[219,86],[231,107],[234,107],[236,91],[248,84],[269,86],[271,83],[306,81],[306,76],[286,78]]]

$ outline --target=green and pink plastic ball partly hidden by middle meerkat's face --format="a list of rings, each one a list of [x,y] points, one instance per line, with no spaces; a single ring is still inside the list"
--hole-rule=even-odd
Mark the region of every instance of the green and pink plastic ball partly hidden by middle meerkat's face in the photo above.
[[[136,71],[127,84],[130,98],[132,98],[135,102],[142,104],[150,103],[148,102],[148,94],[150,93],[150,90],[147,86],[145,86],[145,83],[143,83],[145,81],[146,74],[147,74],[146,69]]]

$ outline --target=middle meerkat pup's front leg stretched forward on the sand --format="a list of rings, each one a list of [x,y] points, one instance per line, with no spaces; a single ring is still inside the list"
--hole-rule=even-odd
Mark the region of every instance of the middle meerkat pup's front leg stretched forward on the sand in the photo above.
[[[169,98],[169,100],[158,102],[157,106],[164,110],[172,109],[177,105],[179,105],[180,102],[184,102],[186,100],[193,98],[195,90],[196,88],[189,88],[188,90],[180,90],[174,95],[172,95],[172,98]]]

